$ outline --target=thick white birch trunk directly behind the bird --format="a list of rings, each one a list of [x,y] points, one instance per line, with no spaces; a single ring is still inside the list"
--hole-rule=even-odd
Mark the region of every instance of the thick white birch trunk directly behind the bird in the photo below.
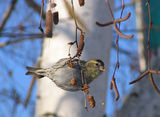
[[[106,101],[107,71],[112,41],[112,27],[101,28],[96,26],[95,21],[110,21],[109,10],[104,0],[86,0],[84,7],[79,7],[78,0],[75,2],[75,11],[85,22],[88,32],[85,34],[85,47],[82,58],[85,60],[99,58],[104,61],[106,71],[98,79],[90,84],[90,93],[95,97],[96,106],[87,112],[84,109],[84,95],[82,91],[68,92],[57,87],[50,79],[43,78],[38,81],[36,117],[45,114],[57,114],[62,117],[102,117],[105,106],[101,103]],[[53,38],[45,39],[43,43],[41,67],[49,67],[61,58],[68,57],[68,42],[74,40],[74,20],[69,19],[68,12],[64,7],[63,0],[55,0],[60,21],[54,28]],[[69,1],[70,2],[70,1]],[[72,55],[75,48],[72,49]],[[45,117],[50,117],[45,116]]]

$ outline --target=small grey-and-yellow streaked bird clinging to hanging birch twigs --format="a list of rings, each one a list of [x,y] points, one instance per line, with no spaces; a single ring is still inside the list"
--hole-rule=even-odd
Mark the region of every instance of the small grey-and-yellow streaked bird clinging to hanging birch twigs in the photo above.
[[[100,59],[88,61],[62,58],[48,68],[26,67],[26,75],[35,75],[38,78],[48,77],[58,87],[66,91],[79,91],[84,84],[91,83],[105,70],[104,63]],[[74,84],[71,83],[74,80]]]

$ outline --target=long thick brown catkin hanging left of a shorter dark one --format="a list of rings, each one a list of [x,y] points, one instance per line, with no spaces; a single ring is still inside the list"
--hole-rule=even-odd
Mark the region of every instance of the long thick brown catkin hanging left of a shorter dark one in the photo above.
[[[47,37],[52,37],[52,26],[53,26],[52,12],[51,10],[48,10],[46,18],[46,31],[45,31]]]

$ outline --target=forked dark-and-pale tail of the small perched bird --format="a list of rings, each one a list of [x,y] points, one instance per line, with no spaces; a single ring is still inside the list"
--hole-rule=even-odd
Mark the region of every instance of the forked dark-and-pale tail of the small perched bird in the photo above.
[[[28,70],[25,75],[36,75],[38,78],[43,78],[45,76],[45,71],[42,68],[33,68],[33,67],[26,67]]]

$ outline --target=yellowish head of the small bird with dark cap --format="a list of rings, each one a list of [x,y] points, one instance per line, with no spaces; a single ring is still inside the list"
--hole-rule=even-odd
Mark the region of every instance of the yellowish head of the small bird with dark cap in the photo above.
[[[99,59],[91,59],[86,62],[85,66],[87,74],[93,79],[97,78],[105,70],[103,61]]]

